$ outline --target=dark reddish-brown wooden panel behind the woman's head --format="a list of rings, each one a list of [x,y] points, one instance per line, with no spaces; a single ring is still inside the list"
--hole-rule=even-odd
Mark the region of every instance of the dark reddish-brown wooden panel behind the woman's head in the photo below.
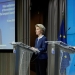
[[[35,25],[43,23],[43,14],[42,13],[34,13],[31,15],[31,20],[30,20],[30,46],[34,46],[35,39],[36,39],[36,34],[35,34]]]

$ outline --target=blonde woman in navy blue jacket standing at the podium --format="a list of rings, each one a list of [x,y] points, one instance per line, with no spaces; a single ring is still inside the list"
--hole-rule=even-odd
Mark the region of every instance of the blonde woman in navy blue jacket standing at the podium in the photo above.
[[[36,59],[36,73],[37,75],[46,75],[47,68],[47,38],[43,35],[45,32],[45,27],[42,24],[36,24],[36,35],[38,38],[35,40],[35,50],[39,50],[40,53],[37,53]]]

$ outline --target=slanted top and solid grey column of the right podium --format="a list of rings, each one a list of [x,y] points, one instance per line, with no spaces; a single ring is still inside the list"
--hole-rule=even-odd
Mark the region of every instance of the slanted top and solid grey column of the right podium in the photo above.
[[[60,73],[60,52],[75,53],[75,48],[61,41],[46,41],[48,43],[48,75],[62,75]],[[53,52],[54,51],[54,52]],[[66,75],[66,74],[63,74]]]

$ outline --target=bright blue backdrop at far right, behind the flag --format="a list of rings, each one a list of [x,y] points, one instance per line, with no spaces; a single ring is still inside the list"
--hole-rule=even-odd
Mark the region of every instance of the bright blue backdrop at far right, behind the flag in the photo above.
[[[67,0],[67,42],[69,45],[75,46],[75,0]],[[67,68],[66,75],[75,75],[75,54],[70,54],[70,66]]]

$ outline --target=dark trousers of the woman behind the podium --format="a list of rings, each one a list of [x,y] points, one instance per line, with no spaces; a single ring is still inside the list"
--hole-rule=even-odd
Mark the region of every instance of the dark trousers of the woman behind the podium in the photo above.
[[[36,75],[47,75],[47,59],[36,59]]]

